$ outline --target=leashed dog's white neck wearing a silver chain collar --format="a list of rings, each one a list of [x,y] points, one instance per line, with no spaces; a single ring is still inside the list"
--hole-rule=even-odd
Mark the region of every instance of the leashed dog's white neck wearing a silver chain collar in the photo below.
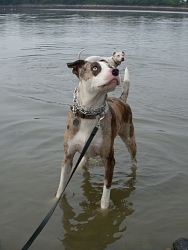
[[[88,116],[104,115],[107,112],[107,94],[89,94],[79,86],[73,93],[73,112]]]

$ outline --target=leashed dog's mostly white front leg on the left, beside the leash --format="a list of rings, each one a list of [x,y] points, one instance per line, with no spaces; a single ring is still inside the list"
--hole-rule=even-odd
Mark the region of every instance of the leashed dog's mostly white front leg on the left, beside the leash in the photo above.
[[[60,195],[63,192],[63,189],[65,188],[65,185],[67,184],[72,169],[72,162],[73,162],[73,155],[70,154],[64,156],[64,159],[62,161],[60,182],[56,193],[56,198],[60,197]]]

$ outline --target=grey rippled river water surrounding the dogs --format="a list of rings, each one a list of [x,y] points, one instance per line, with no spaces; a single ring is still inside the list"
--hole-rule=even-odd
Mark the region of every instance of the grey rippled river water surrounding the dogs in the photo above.
[[[125,51],[138,169],[117,138],[108,211],[92,160],[30,249],[162,250],[188,237],[188,13],[0,11],[0,249],[21,249],[55,202],[77,86],[66,63],[82,48]]]

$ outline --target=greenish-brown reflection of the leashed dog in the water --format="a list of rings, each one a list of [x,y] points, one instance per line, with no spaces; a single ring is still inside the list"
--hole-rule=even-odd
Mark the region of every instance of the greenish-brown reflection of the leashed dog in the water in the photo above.
[[[89,170],[85,168],[81,186],[84,201],[82,199],[82,202],[79,203],[79,212],[70,206],[66,195],[61,199],[64,230],[63,238],[59,240],[62,241],[66,250],[106,249],[107,245],[122,237],[126,230],[125,219],[134,212],[133,204],[127,198],[135,190],[135,172],[129,175],[117,172],[114,175],[111,203],[108,210],[100,210],[101,183],[92,183],[92,179]],[[122,179],[126,180],[124,184],[122,184]],[[120,182],[122,186],[120,186]]]

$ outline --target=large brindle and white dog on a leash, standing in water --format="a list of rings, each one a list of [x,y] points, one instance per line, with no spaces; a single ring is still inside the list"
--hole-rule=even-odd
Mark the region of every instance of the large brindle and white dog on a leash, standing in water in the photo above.
[[[100,121],[100,127],[90,144],[79,167],[85,165],[90,157],[100,156],[105,166],[104,187],[101,208],[107,209],[110,200],[114,159],[114,139],[121,137],[131,155],[132,166],[136,167],[136,142],[132,112],[126,103],[129,89],[129,72],[125,69],[123,92],[120,98],[108,98],[107,93],[120,84],[119,70],[106,62],[87,62],[78,60],[68,63],[73,74],[79,78],[74,93],[74,103],[68,115],[64,135],[64,158],[56,197],[59,198],[73,165],[76,152],[81,152],[93,127]]]

